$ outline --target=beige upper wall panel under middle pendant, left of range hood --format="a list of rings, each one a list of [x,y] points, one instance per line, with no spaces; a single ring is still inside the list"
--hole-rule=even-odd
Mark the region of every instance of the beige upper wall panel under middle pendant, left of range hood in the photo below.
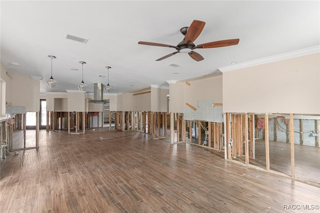
[[[67,111],[85,111],[84,92],[67,92],[68,107]]]

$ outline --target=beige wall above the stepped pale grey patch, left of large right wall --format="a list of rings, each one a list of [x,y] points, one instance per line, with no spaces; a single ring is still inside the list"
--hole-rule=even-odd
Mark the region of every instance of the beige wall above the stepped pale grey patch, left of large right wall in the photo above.
[[[222,74],[188,81],[190,85],[183,84],[183,104],[197,105],[198,100],[213,100],[222,103]]]

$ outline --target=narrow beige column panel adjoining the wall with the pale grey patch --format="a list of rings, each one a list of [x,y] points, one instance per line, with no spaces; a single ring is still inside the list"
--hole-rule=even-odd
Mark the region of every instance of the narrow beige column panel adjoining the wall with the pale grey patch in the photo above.
[[[169,83],[169,112],[183,112],[183,84],[179,81]]]

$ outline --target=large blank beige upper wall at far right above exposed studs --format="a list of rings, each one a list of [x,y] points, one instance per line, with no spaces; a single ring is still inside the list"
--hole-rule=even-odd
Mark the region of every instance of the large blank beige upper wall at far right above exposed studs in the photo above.
[[[223,72],[223,111],[320,114],[320,53]]]

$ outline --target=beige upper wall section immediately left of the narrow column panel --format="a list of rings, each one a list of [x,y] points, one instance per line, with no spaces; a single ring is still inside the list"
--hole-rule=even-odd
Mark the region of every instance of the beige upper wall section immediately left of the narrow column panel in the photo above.
[[[167,111],[167,97],[169,89],[151,87],[151,111]]]

